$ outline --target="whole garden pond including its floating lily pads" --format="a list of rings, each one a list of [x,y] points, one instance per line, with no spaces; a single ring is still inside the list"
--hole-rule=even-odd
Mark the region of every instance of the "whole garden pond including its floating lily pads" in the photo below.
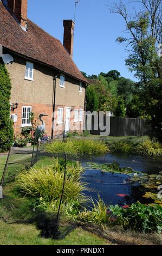
[[[85,173],[82,181],[88,190],[84,193],[93,200],[98,194],[107,205],[122,208],[139,201],[158,203],[158,186],[162,185],[162,157],[118,156],[106,154],[96,157],[96,163],[82,163]],[[90,206],[88,204],[88,208]]]

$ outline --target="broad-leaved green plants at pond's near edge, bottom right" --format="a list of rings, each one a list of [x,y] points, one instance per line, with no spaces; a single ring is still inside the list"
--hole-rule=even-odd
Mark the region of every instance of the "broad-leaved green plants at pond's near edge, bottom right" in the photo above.
[[[143,233],[162,230],[162,208],[159,205],[132,204],[127,209],[119,205],[109,206],[113,215],[118,216],[112,225],[121,225],[124,229],[134,229]]]

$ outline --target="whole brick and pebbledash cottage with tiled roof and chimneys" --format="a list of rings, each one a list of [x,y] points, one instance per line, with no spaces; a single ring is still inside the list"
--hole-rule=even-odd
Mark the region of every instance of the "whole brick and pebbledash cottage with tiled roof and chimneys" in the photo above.
[[[27,19],[27,0],[0,2],[0,44],[14,62],[6,64],[11,78],[14,132],[31,126],[30,113],[47,114],[48,136],[81,131],[88,81],[73,62],[73,20],[64,20],[63,45]]]

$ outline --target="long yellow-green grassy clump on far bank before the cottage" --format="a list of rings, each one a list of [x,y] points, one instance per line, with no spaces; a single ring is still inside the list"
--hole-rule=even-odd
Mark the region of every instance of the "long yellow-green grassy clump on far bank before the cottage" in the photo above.
[[[90,139],[74,139],[73,141],[54,141],[46,145],[47,153],[70,153],[70,154],[101,154],[109,150],[103,142]]]

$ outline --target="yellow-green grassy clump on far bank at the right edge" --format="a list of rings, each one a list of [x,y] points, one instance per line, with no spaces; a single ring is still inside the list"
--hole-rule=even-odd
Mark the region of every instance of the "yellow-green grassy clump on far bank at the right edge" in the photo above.
[[[162,147],[159,142],[147,140],[138,145],[137,153],[143,156],[161,156]]]

